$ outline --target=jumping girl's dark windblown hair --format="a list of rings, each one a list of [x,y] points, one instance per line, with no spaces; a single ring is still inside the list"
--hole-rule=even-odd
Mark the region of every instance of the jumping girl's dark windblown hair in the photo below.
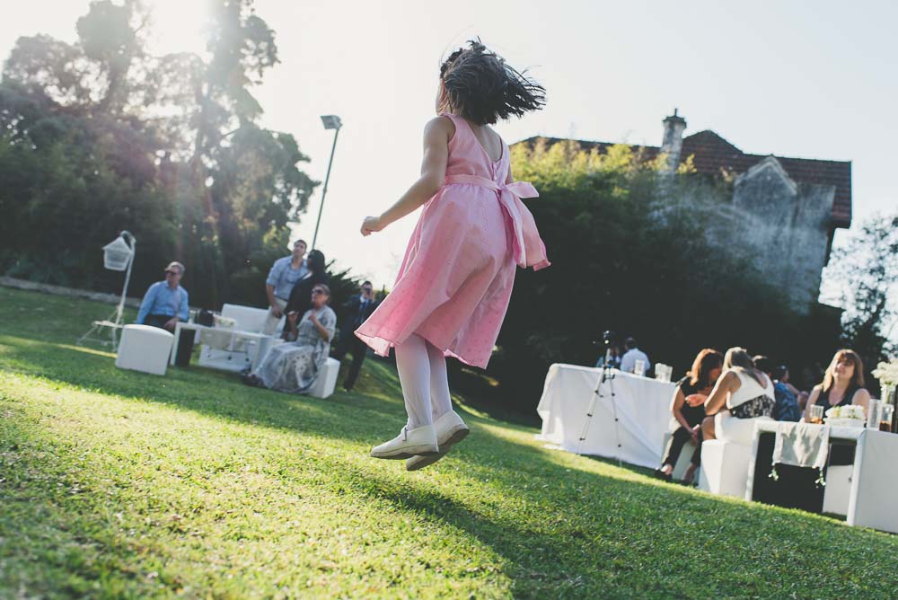
[[[478,125],[521,117],[545,105],[545,88],[524,73],[507,65],[480,40],[470,40],[468,48],[455,50],[440,66],[453,113]]]

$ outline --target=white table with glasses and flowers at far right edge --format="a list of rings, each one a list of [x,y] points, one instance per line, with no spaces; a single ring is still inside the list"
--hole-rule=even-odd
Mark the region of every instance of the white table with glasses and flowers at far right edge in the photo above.
[[[759,421],[754,428],[752,463],[748,470],[745,498],[752,499],[754,463],[762,433],[776,434],[779,427],[794,427],[781,421]],[[830,439],[855,443],[851,467],[846,521],[898,534],[898,434],[867,428],[830,428]],[[829,479],[829,477],[828,477]],[[830,486],[824,490],[830,494]]]

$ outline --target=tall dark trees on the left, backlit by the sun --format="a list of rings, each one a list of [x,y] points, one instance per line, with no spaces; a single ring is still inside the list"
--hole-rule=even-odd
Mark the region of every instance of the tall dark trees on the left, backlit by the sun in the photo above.
[[[74,44],[17,41],[0,83],[0,271],[112,289],[98,248],[128,229],[134,287],[180,260],[194,303],[264,302],[250,290],[317,183],[294,137],[258,125],[251,88],[277,45],[252,4],[213,3],[204,56],[152,56],[138,0],[93,2]]]

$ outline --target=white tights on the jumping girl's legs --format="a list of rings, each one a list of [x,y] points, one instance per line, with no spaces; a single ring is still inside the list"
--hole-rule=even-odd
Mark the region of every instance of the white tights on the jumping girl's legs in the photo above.
[[[396,345],[396,367],[409,413],[409,429],[432,425],[452,410],[443,351],[412,333]]]

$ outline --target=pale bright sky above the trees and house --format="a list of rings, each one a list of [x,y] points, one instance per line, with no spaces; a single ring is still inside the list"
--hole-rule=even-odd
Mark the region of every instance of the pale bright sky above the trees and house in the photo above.
[[[201,49],[199,0],[154,0],[154,50]],[[87,0],[4,6],[0,57],[20,35],[75,40]],[[390,285],[415,216],[362,238],[358,225],[418,174],[440,57],[473,36],[548,90],[545,110],[501,124],[513,143],[546,135],[660,145],[674,107],[686,135],[713,129],[745,152],[853,161],[855,223],[898,205],[898,3],[759,0],[258,0],[281,64],[256,90],[264,125],[295,135],[323,181],[328,258]],[[319,193],[297,232],[312,241]],[[839,235],[843,235],[841,232]],[[551,249],[550,249],[551,251]]]

